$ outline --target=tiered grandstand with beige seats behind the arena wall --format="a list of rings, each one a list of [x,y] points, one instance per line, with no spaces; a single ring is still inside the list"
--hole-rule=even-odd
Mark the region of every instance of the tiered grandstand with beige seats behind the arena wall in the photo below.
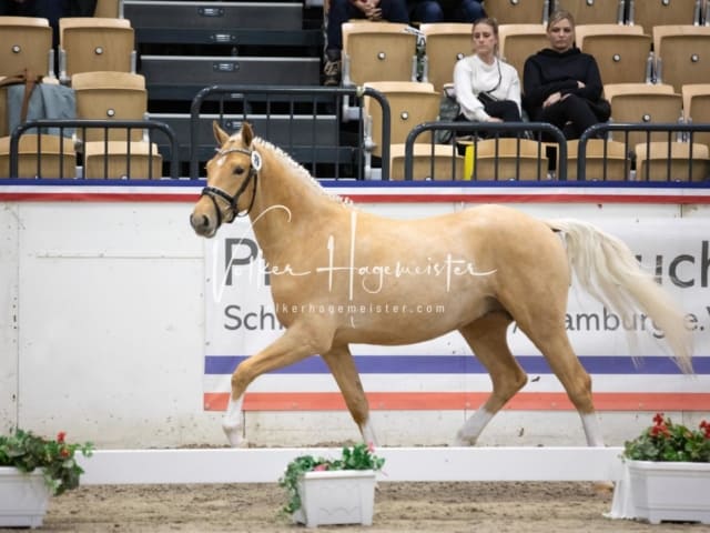
[[[14,177],[12,150],[17,177],[199,178],[213,153],[213,120],[229,131],[250,121],[316,178],[709,178],[710,0],[485,0],[484,8],[520,77],[525,59],[547,47],[551,12],[571,11],[577,46],[599,64],[609,123],[568,142],[542,135],[545,124],[457,123],[454,141],[437,143],[445,86],[471,53],[470,24],[348,22],[342,86],[323,88],[327,6],[317,0],[100,0],[94,17],[60,20],[55,50],[45,19],[0,17],[0,77],[41,74],[42,86],[71,90],[77,120],[98,121],[91,131],[67,123],[63,139],[21,127],[13,140],[8,102],[18,83],[0,87],[0,178]],[[510,129],[513,139],[498,135]]]

